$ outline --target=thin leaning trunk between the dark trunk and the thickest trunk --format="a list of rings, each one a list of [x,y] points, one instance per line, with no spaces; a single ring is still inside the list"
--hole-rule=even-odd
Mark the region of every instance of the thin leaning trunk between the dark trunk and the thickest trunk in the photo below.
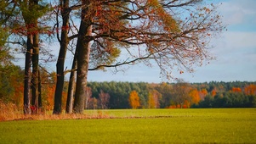
[[[65,113],[71,114],[73,109],[73,97],[75,94],[75,86],[76,86],[76,74],[77,74],[77,49],[73,59],[71,75],[68,85],[67,91],[67,98],[66,98],[66,106],[65,106]]]

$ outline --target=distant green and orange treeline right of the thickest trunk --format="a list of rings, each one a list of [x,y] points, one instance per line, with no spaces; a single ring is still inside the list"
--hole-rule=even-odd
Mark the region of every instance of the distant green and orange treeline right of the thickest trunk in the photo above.
[[[102,93],[107,94],[109,102],[105,102],[106,108],[132,108],[129,102],[131,91],[138,93],[139,108],[256,107],[256,82],[186,83],[179,81],[178,83],[150,84],[111,81],[88,82],[88,87],[92,91],[89,99],[93,98],[94,102],[102,99],[100,97]]]

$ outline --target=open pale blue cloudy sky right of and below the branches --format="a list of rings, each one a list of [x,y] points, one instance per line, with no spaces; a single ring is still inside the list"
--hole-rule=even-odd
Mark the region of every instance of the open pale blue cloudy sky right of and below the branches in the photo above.
[[[255,0],[207,0],[207,3],[222,3],[219,13],[227,25],[218,38],[213,38],[214,46],[209,50],[216,57],[210,64],[196,67],[193,74],[174,69],[174,76],[189,82],[256,80],[256,1]],[[93,71],[88,74],[89,81],[166,81],[160,75],[157,66],[146,67],[144,64],[129,66],[117,74]]]

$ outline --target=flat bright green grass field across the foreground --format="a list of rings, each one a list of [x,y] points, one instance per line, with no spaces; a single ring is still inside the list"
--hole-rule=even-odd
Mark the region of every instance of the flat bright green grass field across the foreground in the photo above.
[[[256,143],[256,108],[89,110],[112,119],[0,122],[0,143]]]

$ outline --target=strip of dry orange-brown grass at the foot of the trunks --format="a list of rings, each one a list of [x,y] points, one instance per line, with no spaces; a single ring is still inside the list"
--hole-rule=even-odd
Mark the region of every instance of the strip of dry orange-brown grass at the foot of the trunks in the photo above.
[[[21,109],[21,108],[20,108]],[[0,100],[0,121],[7,120],[50,120],[50,119],[109,119],[108,114],[101,111],[95,111],[90,114],[52,114],[52,112],[43,112],[39,114],[23,114],[13,103],[4,103]]]

